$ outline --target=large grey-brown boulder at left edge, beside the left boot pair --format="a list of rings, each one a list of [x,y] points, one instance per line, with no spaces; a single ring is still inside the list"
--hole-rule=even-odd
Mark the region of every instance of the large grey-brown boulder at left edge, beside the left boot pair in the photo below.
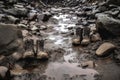
[[[9,55],[11,51],[22,50],[22,32],[13,24],[0,24],[0,55]]]

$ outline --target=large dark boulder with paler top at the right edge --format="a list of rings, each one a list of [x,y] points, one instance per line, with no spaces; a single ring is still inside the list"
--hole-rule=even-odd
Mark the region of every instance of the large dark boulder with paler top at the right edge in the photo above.
[[[97,14],[96,27],[102,37],[120,36],[120,20],[107,14]]]

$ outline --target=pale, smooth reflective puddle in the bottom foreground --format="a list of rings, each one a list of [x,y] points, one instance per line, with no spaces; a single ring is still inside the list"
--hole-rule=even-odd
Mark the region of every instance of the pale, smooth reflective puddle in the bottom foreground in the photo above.
[[[95,80],[94,76],[98,75],[93,69],[82,69],[77,67],[76,63],[49,63],[44,75],[51,80]]]

